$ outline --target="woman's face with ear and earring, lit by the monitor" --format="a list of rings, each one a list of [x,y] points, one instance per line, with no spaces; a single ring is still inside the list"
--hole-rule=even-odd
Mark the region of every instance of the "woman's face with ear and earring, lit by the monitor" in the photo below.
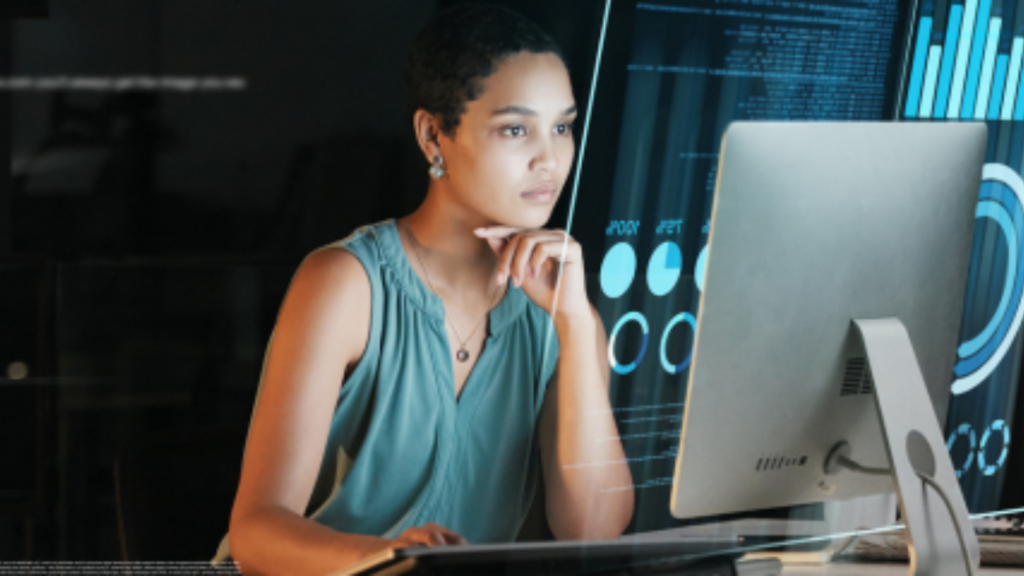
[[[438,183],[488,220],[543,227],[575,155],[568,71],[555,54],[519,52],[482,85],[455,137],[439,138],[447,176]]]

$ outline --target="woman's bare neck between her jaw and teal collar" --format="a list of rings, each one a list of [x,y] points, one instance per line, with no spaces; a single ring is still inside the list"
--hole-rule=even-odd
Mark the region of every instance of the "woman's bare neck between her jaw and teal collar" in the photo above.
[[[454,295],[479,294],[482,290],[489,297],[497,288],[498,257],[473,231],[495,222],[441,196],[431,190],[423,204],[400,218],[398,225],[412,231],[414,246],[436,289]]]

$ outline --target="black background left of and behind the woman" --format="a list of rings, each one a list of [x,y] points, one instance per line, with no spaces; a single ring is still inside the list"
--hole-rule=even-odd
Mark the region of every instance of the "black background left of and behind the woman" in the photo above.
[[[4,0],[2,77],[247,86],[0,90],[0,560],[213,557],[292,274],[426,192],[401,78],[454,3]],[[583,118],[603,2],[495,3]]]

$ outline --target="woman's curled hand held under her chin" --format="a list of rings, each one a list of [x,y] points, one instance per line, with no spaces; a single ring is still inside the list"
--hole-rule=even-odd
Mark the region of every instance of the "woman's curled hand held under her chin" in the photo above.
[[[498,278],[509,280],[554,319],[589,317],[583,248],[560,230],[487,227],[475,231],[498,255]],[[562,258],[564,248],[565,256]],[[563,262],[559,266],[559,261]],[[561,283],[558,283],[561,268]],[[557,310],[555,289],[558,289]]]

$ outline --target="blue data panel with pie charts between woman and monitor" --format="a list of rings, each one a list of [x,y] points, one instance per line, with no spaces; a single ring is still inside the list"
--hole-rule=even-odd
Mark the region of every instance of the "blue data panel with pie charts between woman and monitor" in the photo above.
[[[635,491],[631,529],[648,531],[679,524],[669,500],[722,134],[734,120],[895,119],[910,3],[627,4],[609,25],[571,232],[633,474],[612,490]]]

